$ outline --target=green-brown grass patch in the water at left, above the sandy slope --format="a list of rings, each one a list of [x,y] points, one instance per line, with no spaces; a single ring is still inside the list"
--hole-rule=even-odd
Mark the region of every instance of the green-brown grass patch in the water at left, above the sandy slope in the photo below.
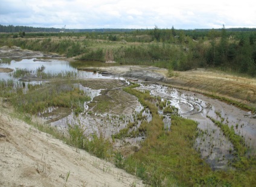
[[[43,84],[36,90],[27,94],[18,94],[11,98],[14,108],[20,112],[37,114],[44,112],[50,106],[71,108],[80,111],[84,108],[83,103],[91,100],[83,91],[74,87],[68,81],[56,81],[51,84]]]

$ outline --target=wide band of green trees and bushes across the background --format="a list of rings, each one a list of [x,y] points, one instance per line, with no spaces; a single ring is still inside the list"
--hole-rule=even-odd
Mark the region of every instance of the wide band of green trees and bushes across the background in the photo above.
[[[122,64],[142,64],[171,70],[213,67],[256,76],[255,28],[226,29],[223,25],[221,29],[182,30],[174,29],[173,26],[171,29],[155,26],[154,29],[98,29],[94,32],[26,32],[28,29],[22,31],[22,28],[16,28],[19,32],[0,34],[0,38],[3,38],[1,43],[11,41],[22,48],[38,51],[49,48],[51,52],[61,52],[69,57],[83,54],[81,60],[104,61],[106,53],[111,52],[114,60]],[[48,40],[51,36],[59,37],[60,41]],[[74,36],[76,39],[72,42],[62,39]],[[4,40],[22,37],[27,40]],[[42,41],[33,43],[33,40],[28,40],[31,37],[42,38]],[[80,40],[80,37],[85,39]],[[112,43],[107,45],[108,49],[92,49],[88,44],[94,39],[95,42],[101,40]],[[118,41],[123,42],[120,48],[114,47]],[[139,44],[133,45],[133,42]]]

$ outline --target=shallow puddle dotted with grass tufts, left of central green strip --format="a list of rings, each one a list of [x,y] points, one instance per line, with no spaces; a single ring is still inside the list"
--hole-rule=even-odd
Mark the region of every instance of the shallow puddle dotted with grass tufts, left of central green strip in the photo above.
[[[139,105],[135,108],[132,114],[121,114],[121,115],[112,115],[112,114],[88,114],[83,113],[75,116],[73,113],[69,114],[67,117],[62,118],[58,121],[50,123],[52,126],[56,126],[60,130],[66,130],[68,124],[80,124],[85,129],[86,136],[91,136],[96,133],[97,135],[104,135],[106,138],[111,138],[112,135],[120,132],[121,129],[127,127],[129,123],[137,123],[136,128],[141,124],[141,120],[138,120],[138,114],[142,112],[142,117],[145,120],[152,120],[152,115],[149,110],[144,110],[142,105]],[[126,138],[127,142],[130,143],[139,143],[143,139],[142,136],[136,138]]]

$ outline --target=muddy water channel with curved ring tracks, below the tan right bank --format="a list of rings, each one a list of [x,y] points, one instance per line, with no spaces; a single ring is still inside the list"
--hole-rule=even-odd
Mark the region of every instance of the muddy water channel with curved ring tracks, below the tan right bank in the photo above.
[[[179,109],[179,115],[198,122],[199,136],[195,147],[212,168],[224,168],[233,158],[234,147],[206,115],[222,123],[233,126],[237,135],[245,138],[246,145],[255,154],[256,148],[256,119],[250,112],[242,111],[235,106],[228,105],[216,99],[210,99],[201,94],[190,91],[165,87],[161,85],[145,85],[141,90],[150,90],[154,96],[170,100],[171,105]],[[219,117],[221,114],[222,119]]]

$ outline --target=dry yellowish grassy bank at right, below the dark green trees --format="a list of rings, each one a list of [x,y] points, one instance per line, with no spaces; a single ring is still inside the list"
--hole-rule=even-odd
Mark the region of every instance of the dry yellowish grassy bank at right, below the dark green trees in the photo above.
[[[256,79],[241,78],[210,70],[179,72],[166,81],[174,87],[226,97],[246,105],[256,106]]]

